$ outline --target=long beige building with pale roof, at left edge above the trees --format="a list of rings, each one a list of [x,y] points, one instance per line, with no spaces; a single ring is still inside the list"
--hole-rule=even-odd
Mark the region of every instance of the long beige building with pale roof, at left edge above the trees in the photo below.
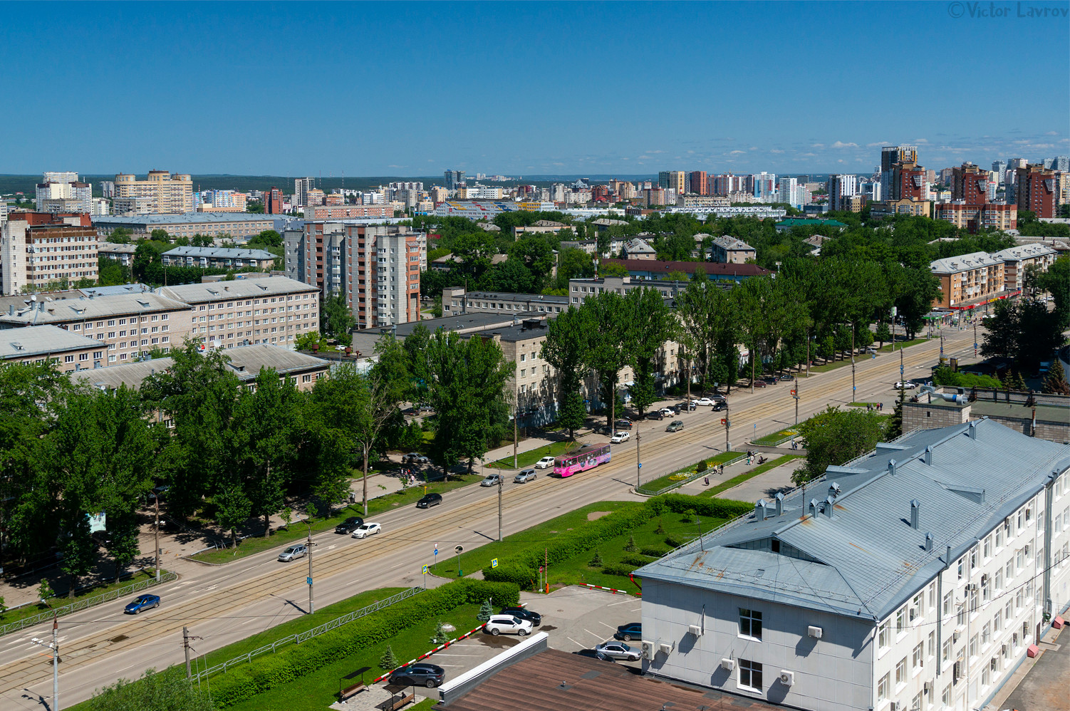
[[[10,306],[0,314],[0,329],[59,327],[102,342],[107,363],[113,364],[137,360],[154,348],[181,346],[190,333],[189,319],[188,304],[152,291],[56,299],[35,294],[21,308]]]

